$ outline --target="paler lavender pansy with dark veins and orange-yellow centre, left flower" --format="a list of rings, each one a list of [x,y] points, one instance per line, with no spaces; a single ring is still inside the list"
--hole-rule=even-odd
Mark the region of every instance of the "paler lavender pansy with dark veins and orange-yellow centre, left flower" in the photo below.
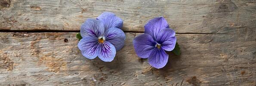
[[[81,26],[83,39],[79,41],[78,48],[88,59],[98,56],[102,61],[112,61],[116,51],[124,45],[122,27],[123,20],[111,12],[103,12],[96,19],[88,18]]]

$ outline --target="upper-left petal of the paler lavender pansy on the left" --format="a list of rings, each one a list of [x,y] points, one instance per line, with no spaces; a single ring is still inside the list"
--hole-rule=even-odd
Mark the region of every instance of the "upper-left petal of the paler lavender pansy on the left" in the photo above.
[[[81,26],[81,36],[92,36],[92,37],[99,37],[104,34],[104,25],[101,21],[88,18]]]

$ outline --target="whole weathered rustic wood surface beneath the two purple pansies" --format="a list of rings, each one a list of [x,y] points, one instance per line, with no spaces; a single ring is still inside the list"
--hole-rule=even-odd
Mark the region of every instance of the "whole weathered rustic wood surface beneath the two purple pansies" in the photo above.
[[[114,61],[84,58],[75,34],[114,12],[125,46]],[[162,69],[134,52],[163,16],[182,54]],[[0,0],[0,86],[256,86],[256,0]]]

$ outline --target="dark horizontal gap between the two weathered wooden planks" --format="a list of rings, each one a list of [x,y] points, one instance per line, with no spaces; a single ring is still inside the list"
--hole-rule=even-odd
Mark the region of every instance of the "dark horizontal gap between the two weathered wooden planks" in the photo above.
[[[0,32],[26,32],[26,33],[51,33],[51,32],[77,32],[77,30],[63,31],[63,30],[0,30]],[[125,33],[144,33],[143,31],[124,31]],[[176,34],[221,34],[221,33],[176,33]]]

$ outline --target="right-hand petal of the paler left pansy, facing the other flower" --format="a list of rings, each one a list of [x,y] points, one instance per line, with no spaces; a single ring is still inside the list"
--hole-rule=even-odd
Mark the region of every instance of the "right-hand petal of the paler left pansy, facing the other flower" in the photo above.
[[[116,51],[120,50],[124,45],[125,34],[119,28],[109,28],[105,33],[104,37],[106,41],[113,44]]]

